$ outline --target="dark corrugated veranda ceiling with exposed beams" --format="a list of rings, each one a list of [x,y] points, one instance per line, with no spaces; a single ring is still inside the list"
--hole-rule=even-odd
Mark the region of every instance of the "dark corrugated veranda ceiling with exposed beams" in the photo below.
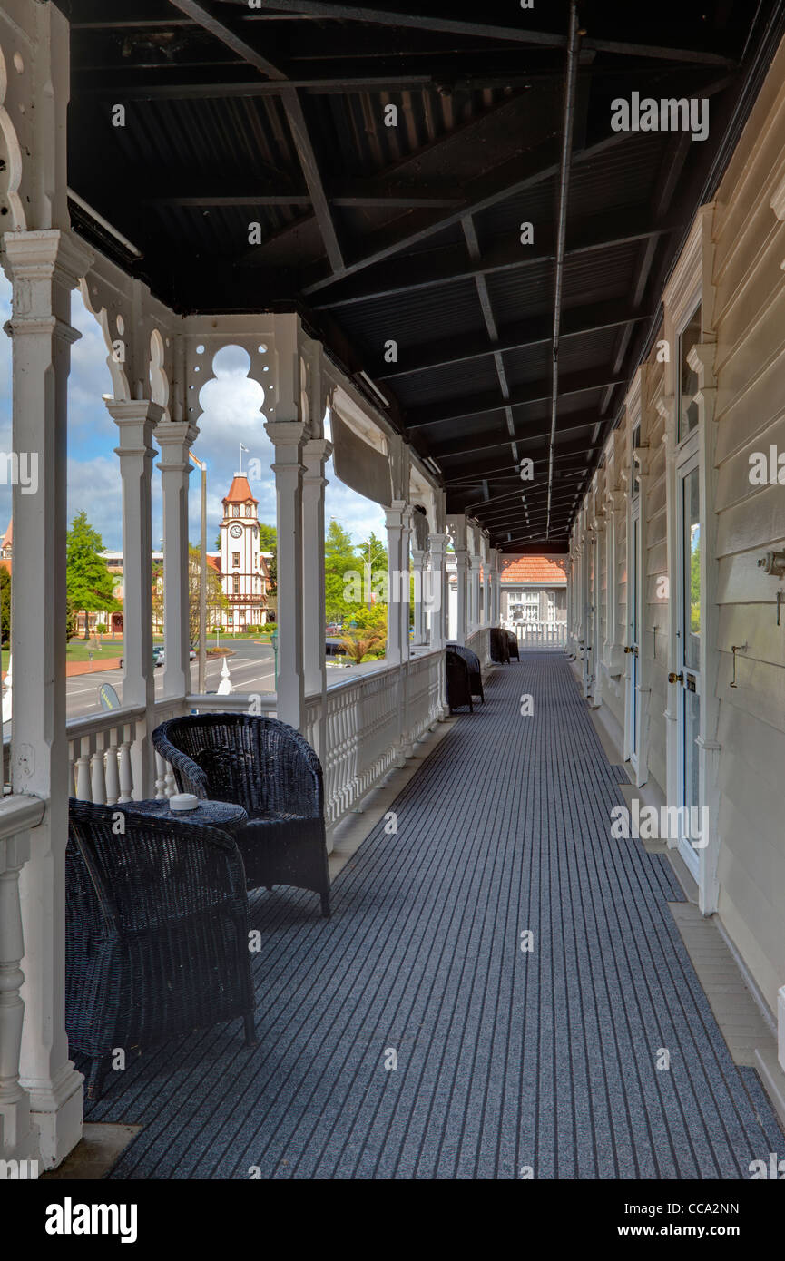
[[[143,257],[73,204],[77,231],[178,311],[299,310],[376,382],[438,468],[448,511],[510,551],[564,547],[663,282],[782,35],[782,3],[587,0],[572,93],[567,0],[59,8],[68,183]],[[707,140],[612,131],[611,101],[632,92],[708,97]],[[534,482],[520,480],[524,458]]]

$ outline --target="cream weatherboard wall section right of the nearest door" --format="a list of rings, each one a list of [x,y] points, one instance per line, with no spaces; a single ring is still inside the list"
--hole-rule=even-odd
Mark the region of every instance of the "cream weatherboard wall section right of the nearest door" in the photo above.
[[[785,49],[717,194],[717,497],[721,700],[719,917],[776,1011],[785,985],[785,608],[757,560],[785,547],[785,487],[750,484],[750,455],[785,451]],[[732,644],[737,683],[731,689]]]

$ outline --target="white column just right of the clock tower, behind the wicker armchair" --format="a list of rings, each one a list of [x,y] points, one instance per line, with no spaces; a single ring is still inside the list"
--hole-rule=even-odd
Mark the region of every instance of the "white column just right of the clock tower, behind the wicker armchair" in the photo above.
[[[270,420],[265,430],[275,448],[278,528],[278,704],[276,714],[298,731],[305,720],[303,672],[303,444],[299,420]],[[322,525],[323,528],[323,525]],[[323,564],[323,561],[322,561]],[[323,599],[323,596],[322,596]],[[323,632],[322,625],[322,632]],[[322,644],[321,658],[324,657]]]

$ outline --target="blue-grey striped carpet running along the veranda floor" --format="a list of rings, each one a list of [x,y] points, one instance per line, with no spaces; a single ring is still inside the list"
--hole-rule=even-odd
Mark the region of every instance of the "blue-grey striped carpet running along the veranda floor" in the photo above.
[[[254,895],[261,1045],[236,1021],[116,1074],[90,1120],[143,1130],[112,1178],[743,1178],[784,1150],[670,868],[610,839],[623,797],[568,663],[521,658],[343,869],[331,921]]]

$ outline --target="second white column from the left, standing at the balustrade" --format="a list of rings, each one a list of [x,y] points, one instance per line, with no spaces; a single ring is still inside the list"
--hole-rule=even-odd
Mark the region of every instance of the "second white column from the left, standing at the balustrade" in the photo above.
[[[120,433],[115,453],[120,459],[122,482],[122,705],[144,705],[146,719],[136,724],[131,749],[136,799],[151,796],[153,745],[155,725],[155,682],[153,675],[153,525],[150,497],[153,482],[153,430],[162,409],[146,398],[129,402],[106,401],[106,409]]]

